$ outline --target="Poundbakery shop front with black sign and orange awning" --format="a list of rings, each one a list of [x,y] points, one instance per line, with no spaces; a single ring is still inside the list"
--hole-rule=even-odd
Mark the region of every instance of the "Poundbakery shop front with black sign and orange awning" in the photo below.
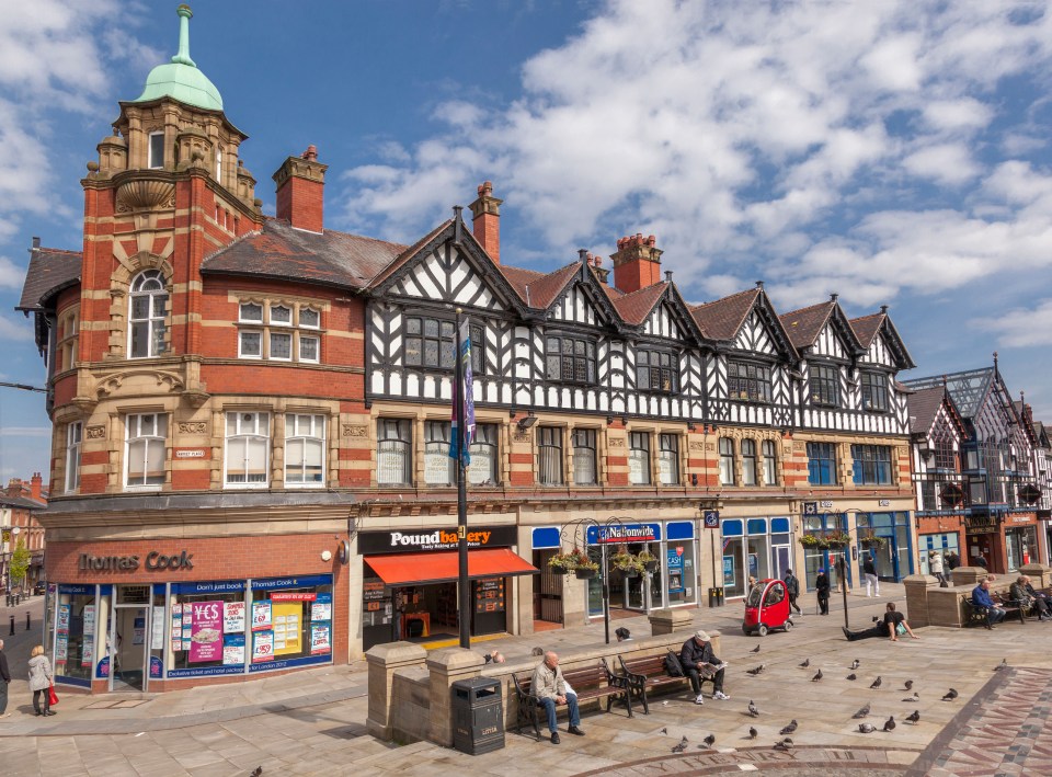
[[[510,578],[537,568],[512,549],[515,526],[468,530],[470,633],[511,630]],[[456,639],[459,635],[457,528],[363,532],[363,650],[386,642]]]

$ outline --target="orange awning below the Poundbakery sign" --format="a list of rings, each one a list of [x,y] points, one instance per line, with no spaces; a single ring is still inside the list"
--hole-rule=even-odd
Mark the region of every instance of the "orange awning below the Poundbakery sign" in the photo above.
[[[459,578],[458,553],[453,551],[366,556],[365,561],[388,585],[444,583]],[[468,551],[468,578],[471,580],[538,572],[540,572],[539,569],[507,548],[482,548]]]

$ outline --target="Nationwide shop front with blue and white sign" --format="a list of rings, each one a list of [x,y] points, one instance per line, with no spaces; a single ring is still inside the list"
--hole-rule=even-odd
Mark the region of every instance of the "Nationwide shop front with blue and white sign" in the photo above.
[[[698,547],[696,521],[588,526],[588,557],[603,568],[606,561],[610,607],[649,613],[663,607],[698,604]],[[622,570],[614,563],[618,553],[632,557],[642,551],[654,556],[648,570]],[[603,579],[588,584],[588,615],[603,615]]]

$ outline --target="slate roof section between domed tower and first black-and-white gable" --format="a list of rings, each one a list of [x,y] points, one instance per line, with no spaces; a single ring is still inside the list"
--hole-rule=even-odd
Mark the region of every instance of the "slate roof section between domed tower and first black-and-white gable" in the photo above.
[[[385,271],[390,272],[395,260],[403,253],[408,253],[407,247],[399,243],[331,230],[308,232],[272,218],[263,222],[260,231],[250,232],[205,259],[202,272],[364,288]]]

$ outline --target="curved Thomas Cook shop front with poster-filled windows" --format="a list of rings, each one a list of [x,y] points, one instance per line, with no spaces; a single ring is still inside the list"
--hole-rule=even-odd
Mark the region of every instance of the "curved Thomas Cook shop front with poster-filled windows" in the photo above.
[[[156,693],[347,661],[332,535],[50,542],[47,556],[59,684]]]

